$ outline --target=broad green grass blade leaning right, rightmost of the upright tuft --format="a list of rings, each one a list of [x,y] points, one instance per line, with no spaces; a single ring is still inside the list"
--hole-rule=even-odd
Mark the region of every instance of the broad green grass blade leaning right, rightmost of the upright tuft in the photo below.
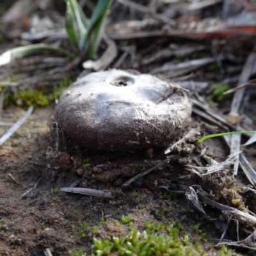
[[[99,0],[97,6],[93,10],[88,32],[84,38],[81,38],[81,46],[86,46],[90,42],[90,58],[96,53],[100,39],[102,38],[102,30],[104,29],[104,21],[113,0]],[[93,35],[94,34],[94,35]]]

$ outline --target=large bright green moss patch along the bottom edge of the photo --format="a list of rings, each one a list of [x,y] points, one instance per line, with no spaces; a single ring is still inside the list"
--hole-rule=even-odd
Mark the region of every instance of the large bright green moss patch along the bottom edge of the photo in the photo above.
[[[150,227],[150,229],[148,229]],[[199,246],[193,246],[188,236],[178,237],[173,225],[147,223],[146,230],[132,230],[124,237],[93,238],[92,255],[202,255]],[[158,229],[159,228],[159,229]],[[156,232],[156,229],[157,232]]]

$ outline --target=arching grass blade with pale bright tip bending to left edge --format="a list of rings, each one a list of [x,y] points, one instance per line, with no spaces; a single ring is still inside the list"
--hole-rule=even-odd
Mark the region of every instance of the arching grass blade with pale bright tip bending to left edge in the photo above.
[[[66,51],[60,47],[48,45],[48,44],[33,44],[20,46],[6,51],[0,55],[0,67],[10,63],[11,61],[24,58],[33,54],[40,54],[45,51],[58,52],[67,56],[67,58],[74,58],[74,54]]]

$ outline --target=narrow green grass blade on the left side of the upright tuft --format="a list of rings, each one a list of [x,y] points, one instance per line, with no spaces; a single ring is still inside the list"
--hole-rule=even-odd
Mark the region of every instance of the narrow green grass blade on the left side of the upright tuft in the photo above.
[[[76,31],[76,17],[70,8],[69,1],[67,2],[67,12],[65,15],[65,29],[68,34],[70,42],[78,48],[78,33]]]

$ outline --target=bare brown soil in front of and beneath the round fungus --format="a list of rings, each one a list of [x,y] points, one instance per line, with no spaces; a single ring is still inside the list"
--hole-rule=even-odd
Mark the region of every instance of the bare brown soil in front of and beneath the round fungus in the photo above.
[[[17,107],[5,109],[3,121],[14,122],[24,112]],[[189,186],[200,184],[196,175],[182,164],[170,161],[170,164],[136,180],[129,188],[121,188],[129,177],[165,159],[164,147],[136,153],[106,153],[77,148],[67,142],[66,151],[73,152],[73,161],[67,166],[58,166],[49,157],[54,152],[54,136],[51,136],[47,124],[51,124],[53,113],[53,106],[35,109],[22,127],[1,147],[1,255],[39,256],[44,255],[46,248],[51,250],[52,255],[74,255],[80,249],[85,255],[90,255],[93,237],[110,238],[129,232],[129,225],[115,224],[122,215],[130,215],[136,230],[141,231],[147,221],[180,221],[183,225],[180,236],[188,235],[192,242],[199,240],[207,255],[216,254],[212,245],[220,239],[225,221],[218,218],[221,212],[211,208],[205,208],[205,211],[215,219],[203,218],[193,210],[184,194],[179,195],[179,191],[188,191]],[[197,124],[192,122],[191,125]],[[5,129],[2,126],[1,133]],[[219,139],[209,140],[207,145],[207,154],[216,160],[223,161],[223,157],[228,155],[228,150]],[[79,158],[78,155],[80,162],[75,160]],[[179,154],[177,159],[181,157],[184,156]],[[199,161],[200,152],[194,149],[186,157],[192,163]],[[83,168],[84,163],[90,163],[90,166]],[[58,188],[68,187],[76,180],[79,181],[79,187],[110,190],[113,198],[58,192]],[[81,224],[84,222],[88,227],[83,233]],[[200,232],[194,228],[197,223],[200,223]],[[97,227],[97,234],[92,232],[93,226]],[[202,230],[207,234],[204,239],[200,239]],[[234,238],[232,228],[227,238]]]

